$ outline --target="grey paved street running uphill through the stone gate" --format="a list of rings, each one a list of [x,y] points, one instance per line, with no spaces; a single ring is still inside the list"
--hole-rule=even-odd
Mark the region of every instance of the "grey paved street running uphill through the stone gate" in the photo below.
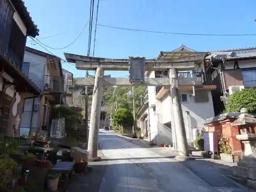
[[[99,155],[103,161],[91,163],[94,165],[92,173],[80,176],[79,182],[71,186],[69,191],[251,191],[237,185],[225,177],[225,174],[216,172],[217,168],[214,166],[218,165],[207,161],[178,162],[174,158],[167,158],[175,154],[161,155],[156,153],[157,148],[141,147],[116,136],[112,131],[101,130],[99,143]]]

